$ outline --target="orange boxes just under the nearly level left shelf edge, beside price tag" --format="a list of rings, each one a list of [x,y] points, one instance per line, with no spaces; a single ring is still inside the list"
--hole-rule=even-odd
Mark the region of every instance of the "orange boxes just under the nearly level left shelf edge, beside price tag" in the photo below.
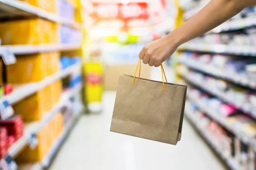
[[[23,84],[38,82],[47,76],[47,53],[17,56],[17,62],[7,65],[7,82]]]

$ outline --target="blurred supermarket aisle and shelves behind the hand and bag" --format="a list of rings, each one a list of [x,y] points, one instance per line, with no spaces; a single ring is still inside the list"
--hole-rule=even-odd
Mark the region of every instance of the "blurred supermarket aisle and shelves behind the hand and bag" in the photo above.
[[[0,169],[256,170],[255,6],[163,63],[189,87],[177,146],[109,131],[119,75],[208,2],[0,0]]]

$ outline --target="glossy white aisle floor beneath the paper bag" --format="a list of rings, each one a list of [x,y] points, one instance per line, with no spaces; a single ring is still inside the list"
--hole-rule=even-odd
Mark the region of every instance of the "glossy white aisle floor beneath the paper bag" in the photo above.
[[[177,146],[109,131],[114,92],[100,114],[83,115],[50,170],[225,170],[187,121]]]

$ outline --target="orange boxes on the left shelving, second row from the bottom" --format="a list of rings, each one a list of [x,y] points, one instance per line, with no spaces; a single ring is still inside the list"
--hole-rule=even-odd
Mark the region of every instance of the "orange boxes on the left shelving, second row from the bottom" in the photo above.
[[[50,101],[49,95],[47,95],[47,88],[43,88],[32,96],[16,103],[13,105],[13,108],[15,113],[19,114],[24,122],[38,121],[44,116],[44,113],[46,113],[49,108],[49,106],[47,106],[47,101]]]

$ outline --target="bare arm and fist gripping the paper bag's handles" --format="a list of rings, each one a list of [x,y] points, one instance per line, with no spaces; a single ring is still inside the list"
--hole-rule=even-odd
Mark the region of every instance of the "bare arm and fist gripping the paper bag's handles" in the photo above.
[[[211,0],[198,14],[170,34],[145,45],[139,57],[144,64],[158,67],[181,44],[212,30],[253,5],[256,5],[256,0]]]

